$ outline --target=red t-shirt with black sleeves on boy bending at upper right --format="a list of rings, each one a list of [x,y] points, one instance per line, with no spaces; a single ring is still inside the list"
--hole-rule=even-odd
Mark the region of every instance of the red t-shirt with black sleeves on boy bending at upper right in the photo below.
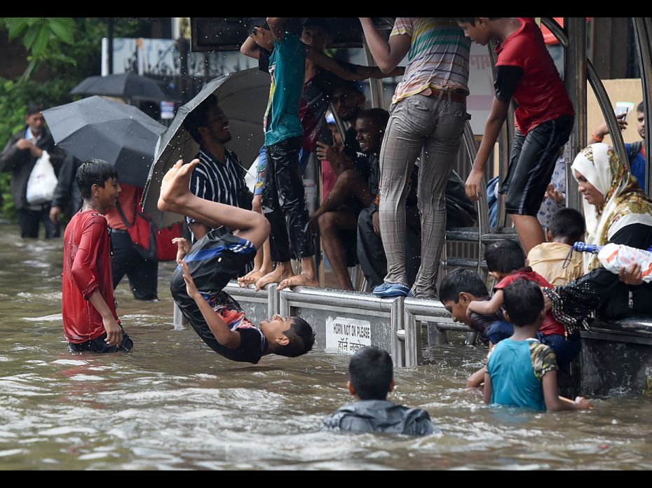
[[[522,134],[527,134],[541,123],[563,115],[572,116],[575,111],[555,62],[545,48],[541,29],[531,17],[519,17],[518,20],[521,27],[496,45],[496,67],[523,70],[513,97],[518,104],[516,127]]]

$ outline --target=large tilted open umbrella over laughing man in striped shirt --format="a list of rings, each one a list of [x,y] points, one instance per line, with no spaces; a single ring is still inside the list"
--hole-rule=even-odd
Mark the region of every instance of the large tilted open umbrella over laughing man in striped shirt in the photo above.
[[[166,227],[182,220],[183,216],[161,212],[156,208],[165,172],[177,160],[190,162],[199,152],[199,144],[184,128],[186,116],[209,95],[215,94],[222,111],[229,117],[233,139],[226,144],[235,152],[245,167],[256,159],[264,142],[263,116],[269,98],[269,75],[257,68],[236,71],[207,83],[190,102],[179,108],[168,130],[161,136],[143,194],[143,209],[156,225]]]

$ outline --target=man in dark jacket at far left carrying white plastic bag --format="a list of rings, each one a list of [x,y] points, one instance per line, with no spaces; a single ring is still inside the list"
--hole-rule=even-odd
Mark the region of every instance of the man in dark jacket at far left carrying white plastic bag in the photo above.
[[[39,237],[39,222],[46,228],[46,239],[59,237],[60,229],[50,221],[50,203],[30,205],[27,203],[27,181],[36,161],[43,151],[48,151],[50,162],[58,172],[64,154],[55,149],[52,135],[45,127],[39,104],[27,105],[25,127],[13,134],[0,154],[0,171],[11,171],[11,196],[18,214],[20,237]]]

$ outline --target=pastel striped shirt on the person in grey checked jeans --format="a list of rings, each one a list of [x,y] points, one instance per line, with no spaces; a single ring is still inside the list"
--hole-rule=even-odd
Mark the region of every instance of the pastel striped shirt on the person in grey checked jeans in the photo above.
[[[390,36],[407,34],[410,48],[403,80],[392,103],[427,90],[463,90],[468,93],[470,39],[452,19],[397,17]]]

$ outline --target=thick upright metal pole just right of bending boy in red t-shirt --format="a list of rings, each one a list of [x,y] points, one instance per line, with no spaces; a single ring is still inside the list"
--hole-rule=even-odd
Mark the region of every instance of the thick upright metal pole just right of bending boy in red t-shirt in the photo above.
[[[568,144],[570,158],[574,158],[586,147],[586,20],[583,17],[566,17],[564,26],[568,33],[564,83],[575,109],[575,123]],[[579,210],[582,199],[571,174],[571,163],[571,160],[566,161],[566,206]]]

